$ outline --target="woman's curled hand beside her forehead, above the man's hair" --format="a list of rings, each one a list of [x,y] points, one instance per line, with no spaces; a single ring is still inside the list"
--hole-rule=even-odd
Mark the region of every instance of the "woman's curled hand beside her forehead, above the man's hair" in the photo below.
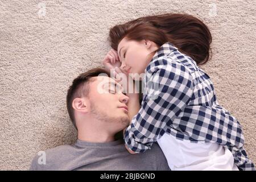
[[[117,51],[115,51],[115,49],[110,49],[110,51],[104,57],[102,64],[106,69],[109,69],[109,70],[115,67],[121,67],[121,62],[119,60]]]

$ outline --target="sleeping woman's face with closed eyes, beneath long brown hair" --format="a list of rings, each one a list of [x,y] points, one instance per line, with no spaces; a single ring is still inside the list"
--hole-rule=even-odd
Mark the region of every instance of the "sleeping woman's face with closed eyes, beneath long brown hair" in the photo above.
[[[121,69],[127,73],[144,73],[157,49],[156,44],[149,40],[138,42],[123,38],[117,48]]]

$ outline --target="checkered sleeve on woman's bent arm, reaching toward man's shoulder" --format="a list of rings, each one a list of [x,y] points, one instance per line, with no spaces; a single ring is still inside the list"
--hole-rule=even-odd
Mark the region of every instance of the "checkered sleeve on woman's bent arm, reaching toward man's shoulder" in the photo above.
[[[147,93],[143,96],[142,107],[125,131],[127,147],[137,153],[150,149],[187,106],[193,94],[192,77],[187,68],[180,63],[170,65],[166,60],[162,61],[162,65],[154,67],[150,74],[148,82],[151,86],[146,83]]]

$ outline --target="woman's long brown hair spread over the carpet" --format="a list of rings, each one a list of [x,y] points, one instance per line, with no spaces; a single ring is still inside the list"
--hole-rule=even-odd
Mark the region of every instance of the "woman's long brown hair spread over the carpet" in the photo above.
[[[159,47],[171,42],[197,64],[205,64],[212,55],[209,28],[198,18],[187,14],[162,14],[144,16],[110,29],[110,46],[117,50],[123,38],[151,40]],[[211,54],[210,54],[211,53]]]

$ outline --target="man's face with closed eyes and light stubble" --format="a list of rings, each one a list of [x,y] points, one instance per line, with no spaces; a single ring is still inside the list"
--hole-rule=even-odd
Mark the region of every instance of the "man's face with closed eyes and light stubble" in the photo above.
[[[90,82],[90,114],[102,121],[102,127],[114,133],[130,122],[127,110],[129,97],[122,91],[122,86],[110,77],[98,76]]]

